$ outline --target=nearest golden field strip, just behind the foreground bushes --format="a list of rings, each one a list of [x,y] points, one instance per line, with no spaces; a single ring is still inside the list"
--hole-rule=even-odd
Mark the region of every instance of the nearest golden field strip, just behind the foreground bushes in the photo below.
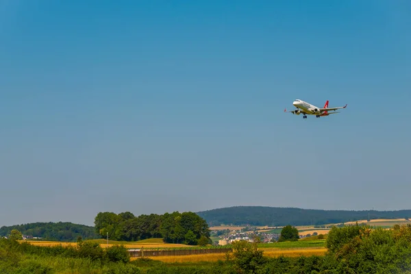
[[[321,248],[302,248],[302,249],[262,249],[266,257],[299,257],[299,256],[323,256],[327,249]],[[230,253],[232,256],[232,253]],[[152,260],[159,260],[162,262],[216,262],[218,260],[225,260],[225,253],[199,254],[199,255],[182,255],[182,256],[151,256],[147,257]],[[138,258],[131,258],[137,260]]]

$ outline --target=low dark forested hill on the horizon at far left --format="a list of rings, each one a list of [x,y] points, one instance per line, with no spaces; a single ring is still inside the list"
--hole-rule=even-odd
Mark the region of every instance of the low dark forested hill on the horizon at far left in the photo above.
[[[75,223],[27,223],[0,227],[0,236],[9,236],[12,229],[17,229],[25,236],[40,237],[42,240],[58,240],[71,242],[82,236],[83,240],[100,238],[94,227]]]

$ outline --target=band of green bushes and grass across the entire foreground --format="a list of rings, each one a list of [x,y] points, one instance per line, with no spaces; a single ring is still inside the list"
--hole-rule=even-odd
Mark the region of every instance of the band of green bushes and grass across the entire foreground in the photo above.
[[[103,249],[97,242],[80,241],[72,247],[36,247],[0,239],[0,273],[411,273],[411,225],[333,227],[324,244],[324,256],[271,257],[270,249],[237,241],[216,262],[198,257],[161,262],[130,260],[121,245]]]

